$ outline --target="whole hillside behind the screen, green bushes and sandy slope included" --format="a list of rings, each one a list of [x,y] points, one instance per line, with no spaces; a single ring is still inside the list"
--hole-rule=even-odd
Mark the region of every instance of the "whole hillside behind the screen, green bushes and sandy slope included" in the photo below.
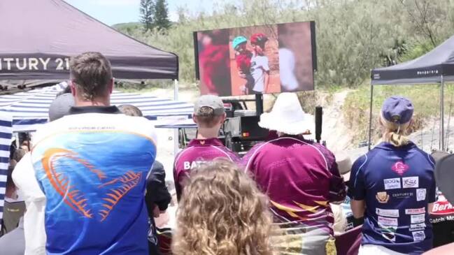
[[[311,1],[310,6],[293,0],[240,2],[236,6],[219,2],[211,16],[179,13],[180,22],[167,31],[144,33],[139,23],[114,27],[139,41],[178,54],[180,84],[194,89],[197,81],[193,31],[314,20],[318,56],[316,92],[300,93],[299,97],[308,112],[313,112],[318,104],[326,107],[325,134],[340,149],[357,147],[367,140],[371,68],[415,59],[454,34],[454,2],[449,0],[329,0]],[[416,4],[421,2],[424,4]],[[452,87],[446,89],[447,108],[452,104],[453,93]],[[415,104],[415,131],[427,130],[428,126],[433,130],[434,121],[439,121],[437,86],[381,86],[374,98],[374,140],[379,138],[378,110],[385,97],[392,94],[407,96]],[[269,106],[274,97],[267,98]]]

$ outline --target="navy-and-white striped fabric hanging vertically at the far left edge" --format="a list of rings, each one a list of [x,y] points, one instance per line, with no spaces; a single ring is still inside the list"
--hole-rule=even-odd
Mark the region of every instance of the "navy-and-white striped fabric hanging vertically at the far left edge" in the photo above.
[[[12,119],[8,115],[0,115],[0,228],[3,219],[3,205],[5,203],[6,176],[10,159],[10,144],[13,133]]]

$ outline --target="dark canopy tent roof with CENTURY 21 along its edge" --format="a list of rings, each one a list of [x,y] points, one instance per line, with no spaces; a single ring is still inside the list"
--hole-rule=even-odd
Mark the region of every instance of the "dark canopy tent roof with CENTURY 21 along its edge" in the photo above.
[[[178,79],[178,57],[141,43],[63,0],[0,1],[0,80],[64,80],[69,57],[101,52],[119,79]]]

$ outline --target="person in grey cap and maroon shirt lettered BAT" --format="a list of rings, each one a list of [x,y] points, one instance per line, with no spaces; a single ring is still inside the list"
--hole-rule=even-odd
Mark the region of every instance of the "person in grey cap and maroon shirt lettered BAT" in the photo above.
[[[218,139],[225,117],[224,103],[218,96],[205,95],[197,99],[192,117],[197,124],[197,137],[190,141],[185,150],[178,153],[173,165],[173,180],[178,200],[190,171],[199,164],[218,157],[239,161],[239,157]]]

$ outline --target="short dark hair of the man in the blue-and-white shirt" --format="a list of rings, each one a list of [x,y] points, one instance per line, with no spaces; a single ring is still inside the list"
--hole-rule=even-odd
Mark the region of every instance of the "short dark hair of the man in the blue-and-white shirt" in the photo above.
[[[93,101],[98,96],[106,96],[112,80],[111,62],[99,52],[85,52],[72,57],[69,62],[71,82],[83,99]]]

